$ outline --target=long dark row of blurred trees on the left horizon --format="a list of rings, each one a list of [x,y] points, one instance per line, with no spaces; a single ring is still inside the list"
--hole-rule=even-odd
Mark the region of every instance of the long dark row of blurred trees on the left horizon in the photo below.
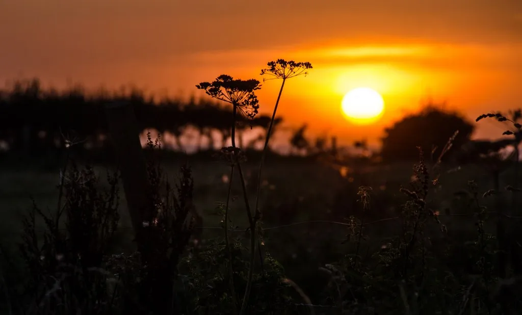
[[[88,93],[81,86],[65,90],[43,89],[38,79],[16,81],[9,89],[0,89],[0,142],[10,151],[38,153],[65,145],[62,135],[73,131],[85,149],[101,148],[106,141],[107,124],[104,106],[111,102],[132,104],[141,131],[156,129],[169,132],[178,149],[180,137],[191,126],[198,131],[198,142],[206,137],[213,146],[212,131],[221,135],[221,146],[230,138],[232,110],[216,102],[194,98],[188,102],[169,99],[155,100],[137,88],[119,91],[99,90]],[[270,117],[258,115],[238,125],[242,130],[259,127],[264,140]],[[276,123],[280,123],[279,118]],[[250,143],[253,146],[255,143]],[[201,148],[199,148],[201,149]]]

